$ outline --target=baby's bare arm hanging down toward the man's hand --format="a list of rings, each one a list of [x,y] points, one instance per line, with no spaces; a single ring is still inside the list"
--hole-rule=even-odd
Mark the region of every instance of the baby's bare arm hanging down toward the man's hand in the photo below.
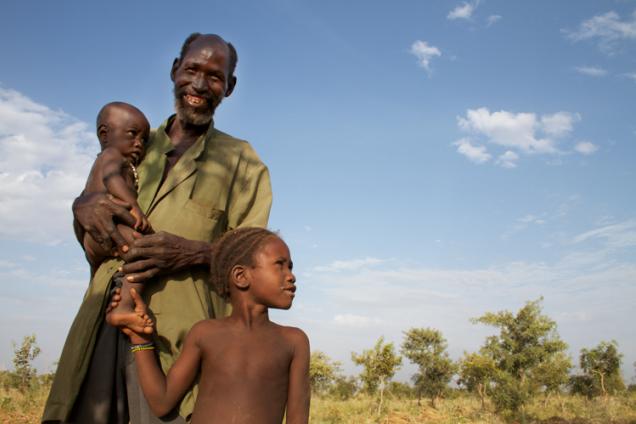
[[[126,158],[114,147],[105,148],[102,153],[102,176],[106,190],[113,196],[130,204],[131,214],[135,217],[136,230],[148,229],[148,220],[137,203],[137,193],[124,178]]]

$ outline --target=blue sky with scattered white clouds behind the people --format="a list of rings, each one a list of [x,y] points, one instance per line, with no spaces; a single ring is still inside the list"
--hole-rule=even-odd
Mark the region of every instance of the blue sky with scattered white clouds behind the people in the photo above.
[[[239,52],[215,118],[269,166],[299,291],[279,322],[350,352],[544,297],[575,362],[636,361],[636,1],[9,1],[0,26],[0,366],[57,360],[88,283],[72,199],[112,100],[172,113],[185,37]],[[412,368],[405,366],[399,378]]]

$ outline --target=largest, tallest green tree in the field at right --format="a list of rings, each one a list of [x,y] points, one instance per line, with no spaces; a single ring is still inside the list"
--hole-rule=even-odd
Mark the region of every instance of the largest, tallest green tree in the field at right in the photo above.
[[[500,411],[521,413],[541,389],[540,369],[555,356],[562,355],[567,344],[561,340],[556,323],[541,314],[541,301],[527,302],[516,315],[509,311],[488,312],[473,320],[499,328],[499,334],[486,339],[481,353],[496,365],[492,398]]]

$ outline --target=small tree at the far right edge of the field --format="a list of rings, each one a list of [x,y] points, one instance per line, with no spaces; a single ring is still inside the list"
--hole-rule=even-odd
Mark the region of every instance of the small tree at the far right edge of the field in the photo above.
[[[592,349],[581,349],[579,364],[582,375],[570,380],[572,392],[588,397],[603,395],[607,397],[625,389],[621,377],[623,355],[618,352],[618,343],[600,342]]]

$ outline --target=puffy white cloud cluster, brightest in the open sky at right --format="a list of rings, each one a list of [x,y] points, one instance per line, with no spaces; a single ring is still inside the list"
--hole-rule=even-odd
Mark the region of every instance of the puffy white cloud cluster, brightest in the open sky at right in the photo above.
[[[537,116],[535,113],[513,113],[505,110],[490,112],[485,107],[468,109],[465,117],[457,117],[457,126],[471,134],[454,144],[457,151],[473,162],[490,159],[480,140],[503,148],[496,164],[514,168],[522,154],[560,154],[559,142],[568,137],[574,124],[581,120],[577,113],[556,112]],[[477,143],[477,144],[476,144]]]

